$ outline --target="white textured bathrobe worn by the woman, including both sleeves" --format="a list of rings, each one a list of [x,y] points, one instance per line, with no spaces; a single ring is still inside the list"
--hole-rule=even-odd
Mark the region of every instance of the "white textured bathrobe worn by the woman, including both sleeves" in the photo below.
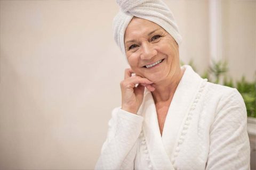
[[[242,96],[183,67],[162,137],[154,99],[145,90],[137,115],[113,110],[95,169],[250,169]]]

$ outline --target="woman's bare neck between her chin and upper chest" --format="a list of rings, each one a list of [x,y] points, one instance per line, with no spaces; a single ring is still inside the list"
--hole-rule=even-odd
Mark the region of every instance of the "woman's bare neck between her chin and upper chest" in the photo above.
[[[169,79],[165,79],[153,85],[155,90],[152,92],[155,104],[157,103],[171,103],[172,97],[178,84],[182,78],[185,69],[180,67],[174,72]]]

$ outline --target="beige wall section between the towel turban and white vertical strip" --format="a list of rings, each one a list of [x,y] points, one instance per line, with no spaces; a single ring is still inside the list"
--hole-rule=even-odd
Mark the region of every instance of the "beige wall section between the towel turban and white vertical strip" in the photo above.
[[[208,1],[165,1],[171,8],[182,35],[180,60],[193,60],[199,73],[209,63],[209,16]]]

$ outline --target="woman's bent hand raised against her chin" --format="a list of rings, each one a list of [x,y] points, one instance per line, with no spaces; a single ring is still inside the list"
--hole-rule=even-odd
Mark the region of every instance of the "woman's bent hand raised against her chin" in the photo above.
[[[153,82],[138,75],[132,76],[132,73],[131,69],[125,69],[124,80],[120,83],[122,91],[122,109],[137,114],[143,100],[145,87],[149,91],[154,91],[155,88],[150,85]],[[137,87],[136,84],[138,84]]]

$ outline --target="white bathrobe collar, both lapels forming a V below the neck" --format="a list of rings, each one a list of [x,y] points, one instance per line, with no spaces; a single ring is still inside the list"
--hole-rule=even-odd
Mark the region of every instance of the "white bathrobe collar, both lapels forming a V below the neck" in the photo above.
[[[163,134],[159,131],[155,103],[151,92],[145,90],[139,115],[144,117],[142,131],[149,150],[154,169],[174,169],[172,157],[179,140],[180,131],[185,124],[189,108],[203,81],[193,69],[186,65],[185,73],[174,93],[167,113]]]

